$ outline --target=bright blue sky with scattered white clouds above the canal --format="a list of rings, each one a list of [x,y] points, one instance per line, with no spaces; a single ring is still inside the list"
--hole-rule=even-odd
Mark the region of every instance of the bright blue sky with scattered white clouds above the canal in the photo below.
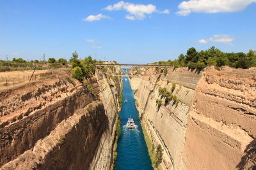
[[[221,3],[220,3],[221,2]],[[256,50],[256,0],[0,0],[0,59],[176,59],[194,46]]]

